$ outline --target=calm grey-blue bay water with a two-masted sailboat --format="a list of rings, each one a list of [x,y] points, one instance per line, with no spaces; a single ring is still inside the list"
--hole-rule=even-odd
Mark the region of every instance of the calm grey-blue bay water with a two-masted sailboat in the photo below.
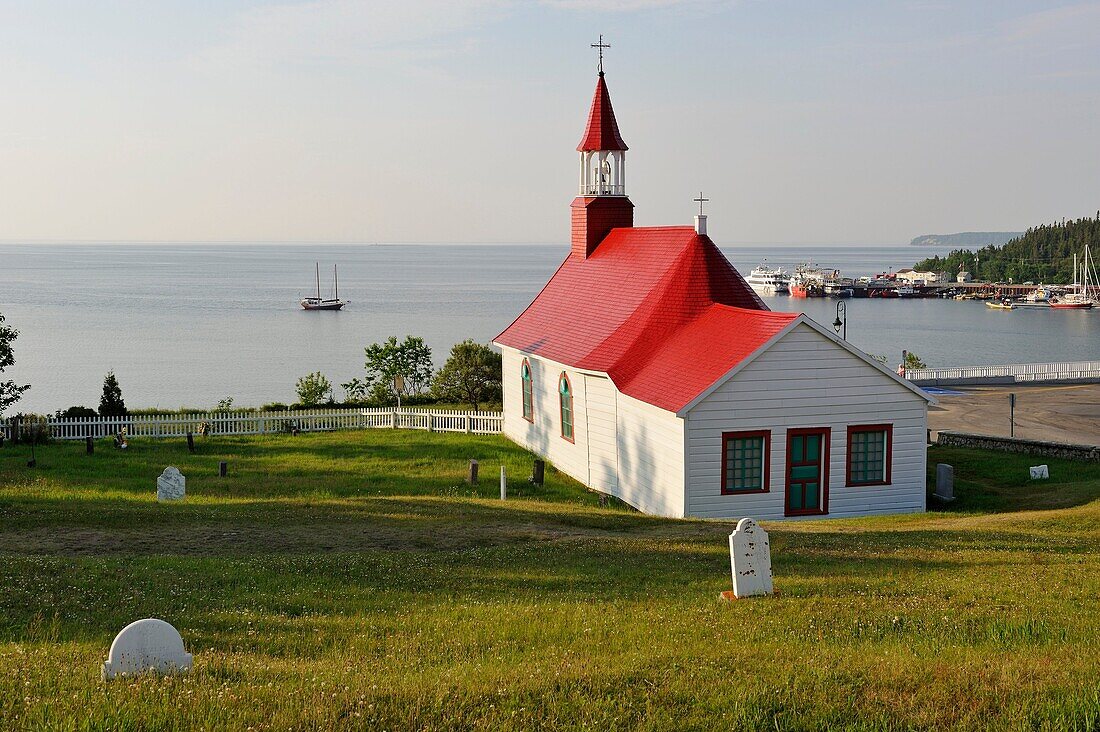
[[[132,407],[294,401],[295,380],[360,375],[363,347],[422,336],[446,358],[464,338],[488,341],[538,293],[564,245],[0,244],[0,313],[21,331],[4,379],[32,389],[15,407],[97,406],[113,369]],[[744,273],[765,256],[790,269],[813,258],[846,275],[910,266],[927,248],[727,247]],[[306,313],[340,265],[341,313]],[[328,267],[328,276],[326,276]],[[827,299],[766,298],[826,325]],[[932,365],[1100,358],[1100,312],[993,312],[954,301],[848,301],[848,340],[897,363]],[[339,390],[338,390],[339,395]]]

